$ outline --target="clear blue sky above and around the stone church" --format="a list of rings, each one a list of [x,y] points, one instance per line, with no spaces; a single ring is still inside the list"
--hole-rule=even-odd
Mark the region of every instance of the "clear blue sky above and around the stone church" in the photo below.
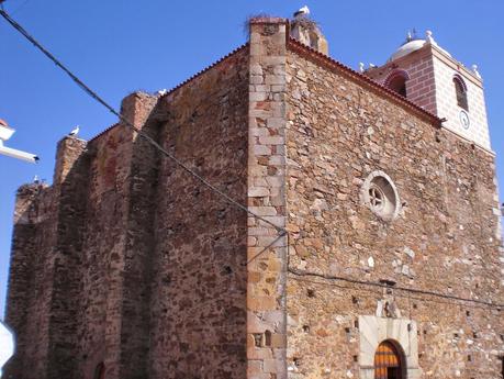
[[[246,40],[250,14],[290,16],[307,4],[331,55],[357,68],[380,65],[407,30],[480,67],[497,176],[504,188],[504,1],[334,0],[7,0],[7,11],[111,104],[135,90],[171,88]],[[0,314],[4,306],[16,188],[34,175],[52,181],[56,143],[75,125],[90,138],[115,122],[68,77],[0,20],[0,119],[16,129],[9,146],[36,153],[30,165],[0,156]],[[503,191],[504,192],[504,191]],[[501,194],[501,199],[503,196]]]

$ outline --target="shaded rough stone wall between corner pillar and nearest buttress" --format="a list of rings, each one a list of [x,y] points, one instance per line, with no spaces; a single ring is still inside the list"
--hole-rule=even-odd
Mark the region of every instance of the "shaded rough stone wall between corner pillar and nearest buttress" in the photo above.
[[[160,102],[163,146],[246,204],[248,48]],[[157,186],[149,378],[245,378],[247,214],[167,158]]]

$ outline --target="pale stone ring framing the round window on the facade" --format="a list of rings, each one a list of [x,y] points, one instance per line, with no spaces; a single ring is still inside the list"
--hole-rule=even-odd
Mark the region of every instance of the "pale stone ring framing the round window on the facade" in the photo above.
[[[390,186],[389,189],[384,189],[382,186],[377,185],[377,178],[382,178],[388,186]],[[376,190],[381,194],[381,199],[383,203],[381,204],[380,208],[377,208],[376,205],[372,204],[372,199],[370,197],[370,191]],[[385,194],[385,192],[392,191],[393,198],[394,199],[389,199]],[[401,211],[401,200],[399,198],[399,192],[397,188],[395,187],[392,178],[388,176],[385,172],[382,170],[376,170],[372,171],[371,174],[368,175],[368,177],[365,179],[361,191],[360,191],[360,200],[361,202],[368,207],[372,213],[374,213],[377,216],[384,221],[393,221],[399,216],[399,213]],[[392,200],[392,201],[391,201]],[[393,211],[392,212],[387,212],[383,211],[383,208],[385,207],[384,202],[389,201],[391,203]]]

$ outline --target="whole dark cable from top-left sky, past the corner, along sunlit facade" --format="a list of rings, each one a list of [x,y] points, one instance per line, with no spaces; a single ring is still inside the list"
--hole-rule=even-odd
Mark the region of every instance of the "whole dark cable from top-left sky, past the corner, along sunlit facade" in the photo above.
[[[169,159],[175,161],[177,166],[182,168],[186,172],[191,175],[194,179],[200,181],[202,185],[221,196],[224,200],[226,200],[228,203],[235,205],[236,208],[245,211],[247,214],[250,216],[260,220],[271,226],[273,226],[277,232],[279,232],[278,237],[270,243],[268,246],[266,246],[261,252],[259,252],[257,255],[255,255],[253,258],[250,258],[247,264],[259,257],[261,254],[264,254],[270,246],[272,246],[278,239],[280,239],[282,236],[287,235],[289,238],[289,234],[285,228],[278,226],[270,222],[269,220],[255,214],[250,210],[247,209],[247,207],[240,204],[223,191],[221,191],[219,188],[213,186],[211,182],[209,182],[206,179],[194,172],[191,168],[186,166],[182,161],[180,161],[177,157],[175,157],[172,154],[167,152],[165,148],[163,148],[156,141],[154,141],[149,135],[144,133],[141,129],[136,127],[130,120],[127,120],[125,116],[123,116],[120,112],[115,111],[114,108],[112,108],[107,101],[104,101],[98,93],[96,93],[91,88],[89,88],[82,80],[80,80],[77,76],[75,76],[67,67],[65,67],[53,54],[51,54],[44,46],[42,46],[33,36],[31,36],[18,22],[15,22],[4,10],[3,10],[3,2],[4,0],[0,0],[0,15],[5,19],[5,21],[11,24],[18,32],[20,32],[27,41],[30,41],[36,48],[38,48],[45,56],[47,56],[57,67],[59,67],[61,70],[64,70],[70,78],[74,80],[88,96],[93,98],[96,101],[98,101],[100,104],[102,104],[104,108],[107,108],[112,114],[116,115],[126,126],[131,127],[134,130],[138,135],[141,135],[143,138],[145,138],[148,143],[150,143],[156,149],[158,149],[160,153],[163,153],[165,156],[167,156]],[[289,243],[288,243],[289,246]],[[288,257],[289,260],[289,257]],[[291,268],[289,266],[288,261],[288,271],[291,272],[294,276],[298,277],[318,277],[323,279],[329,279],[329,280],[338,280],[338,281],[346,281],[349,283],[354,285],[363,285],[363,286],[371,286],[371,287],[381,287],[381,288],[389,288],[389,289],[395,289],[399,291],[408,291],[412,293],[418,293],[418,294],[426,294],[426,296],[434,296],[434,297],[439,297],[439,298],[445,298],[445,299],[450,299],[450,300],[457,300],[457,301],[463,301],[463,302],[472,302],[472,303],[479,303],[479,304],[484,304],[492,308],[497,308],[499,310],[502,310],[504,308],[504,304],[494,304],[492,302],[486,302],[483,300],[475,300],[475,299],[466,299],[466,298],[459,298],[456,296],[451,294],[445,294],[445,293],[439,293],[439,292],[434,292],[434,291],[426,291],[426,290],[418,290],[414,288],[406,288],[406,287],[390,287],[387,285],[373,282],[373,281],[366,281],[366,280],[358,280],[358,279],[352,279],[352,278],[346,278],[346,277],[337,277],[337,276],[329,276],[329,275],[323,275],[323,274],[316,274],[316,272],[310,272],[310,271],[303,271],[303,270],[298,270],[294,268]]]

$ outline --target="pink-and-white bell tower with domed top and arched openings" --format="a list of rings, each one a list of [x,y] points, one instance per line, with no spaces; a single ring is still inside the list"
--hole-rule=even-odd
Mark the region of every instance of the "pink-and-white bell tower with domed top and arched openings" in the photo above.
[[[363,71],[370,78],[446,119],[444,126],[491,149],[483,82],[471,69],[441,48],[427,31],[425,40],[408,34],[380,67]]]

